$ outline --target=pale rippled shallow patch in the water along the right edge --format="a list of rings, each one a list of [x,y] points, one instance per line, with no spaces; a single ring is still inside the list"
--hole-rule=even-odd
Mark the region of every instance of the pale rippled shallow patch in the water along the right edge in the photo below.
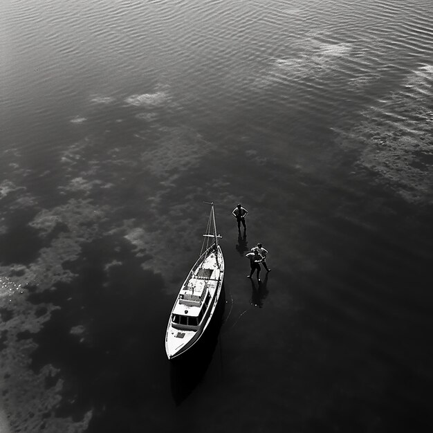
[[[432,83],[433,71],[419,68],[404,90],[364,111],[350,131],[340,131],[343,148],[359,152],[358,165],[410,203],[433,203]]]

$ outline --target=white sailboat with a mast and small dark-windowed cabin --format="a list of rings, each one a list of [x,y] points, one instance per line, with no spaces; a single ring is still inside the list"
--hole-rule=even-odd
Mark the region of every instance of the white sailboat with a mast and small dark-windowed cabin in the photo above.
[[[207,202],[205,202],[207,203]],[[165,333],[165,351],[169,360],[180,356],[201,338],[218,304],[224,278],[224,258],[216,232],[214,203],[199,259],[181,286],[170,313]]]

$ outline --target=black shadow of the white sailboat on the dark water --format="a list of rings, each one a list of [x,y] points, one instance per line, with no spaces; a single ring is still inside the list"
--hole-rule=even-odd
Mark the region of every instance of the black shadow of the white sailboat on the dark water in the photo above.
[[[191,349],[170,361],[170,385],[176,405],[181,405],[203,380],[218,344],[224,310],[225,288],[223,284],[208,328]]]

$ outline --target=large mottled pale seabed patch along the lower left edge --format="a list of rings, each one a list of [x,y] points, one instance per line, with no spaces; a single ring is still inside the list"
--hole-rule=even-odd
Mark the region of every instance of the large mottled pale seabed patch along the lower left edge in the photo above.
[[[62,403],[63,381],[59,378],[55,385],[47,387],[46,380],[56,376],[58,371],[52,365],[45,365],[40,371],[30,368],[31,354],[37,348],[31,335],[38,333],[59,307],[30,303],[28,289],[37,293],[52,290],[58,282],[71,282],[75,275],[64,264],[79,257],[82,242],[101,235],[100,225],[107,212],[107,206],[96,206],[82,199],[71,199],[56,208],[41,210],[30,223],[39,230],[41,237],[47,237],[59,223],[66,230],[42,248],[33,263],[0,267],[0,335],[3,344],[0,384],[7,418],[6,423],[3,416],[5,432],[9,429],[11,432],[72,433],[85,430],[89,424],[91,412],[81,421],[55,416],[56,407]],[[84,329],[75,326],[71,333],[80,340]]]

